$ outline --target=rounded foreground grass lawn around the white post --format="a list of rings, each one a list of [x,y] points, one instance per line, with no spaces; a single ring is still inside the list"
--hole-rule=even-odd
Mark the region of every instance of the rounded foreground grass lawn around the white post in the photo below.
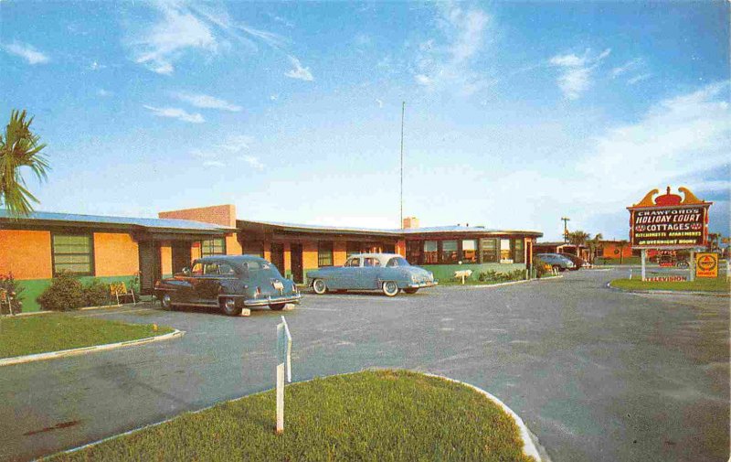
[[[364,371],[288,385],[53,457],[67,460],[529,461],[514,421],[463,385]]]

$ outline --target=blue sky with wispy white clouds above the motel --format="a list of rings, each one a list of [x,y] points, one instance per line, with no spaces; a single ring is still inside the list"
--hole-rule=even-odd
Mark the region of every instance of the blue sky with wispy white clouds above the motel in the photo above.
[[[30,20],[32,18],[32,20]],[[32,27],[29,27],[32,24]],[[0,1],[37,210],[569,230],[651,189],[729,234],[729,3]]]

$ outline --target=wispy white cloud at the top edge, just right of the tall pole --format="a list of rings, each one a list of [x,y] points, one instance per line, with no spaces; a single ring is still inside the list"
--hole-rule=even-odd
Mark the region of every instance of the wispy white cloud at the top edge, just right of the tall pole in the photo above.
[[[472,70],[484,48],[491,18],[482,9],[462,9],[459,4],[439,4],[439,31],[445,42],[429,38],[418,44],[414,79],[429,91],[456,89],[470,95],[491,81]]]

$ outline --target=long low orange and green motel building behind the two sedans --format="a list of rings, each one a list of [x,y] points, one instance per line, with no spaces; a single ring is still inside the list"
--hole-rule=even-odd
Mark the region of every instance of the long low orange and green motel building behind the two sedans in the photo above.
[[[530,267],[539,231],[482,226],[419,227],[404,219],[402,230],[376,230],[238,220],[233,205],[164,211],[158,219],[33,212],[11,219],[0,210],[0,274],[25,287],[23,310],[39,309],[36,298],[61,271],[83,282],[129,285],[152,293],[155,281],[179,273],[201,256],[258,255],[285,277],[306,283],[308,271],[345,263],[359,252],[394,252],[429,269],[437,279],[457,270],[477,275]],[[475,277],[475,276],[473,276]]]

